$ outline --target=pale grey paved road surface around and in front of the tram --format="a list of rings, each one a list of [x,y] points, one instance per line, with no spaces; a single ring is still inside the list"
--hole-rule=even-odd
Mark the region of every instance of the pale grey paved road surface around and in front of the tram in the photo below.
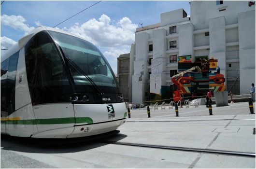
[[[255,106],[255,105],[254,105]],[[255,110],[254,110],[255,111]],[[1,168],[256,168],[248,103],[132,110],[120,133],[97,141],[38,144],[1,136]],[[207,152],[209,151],[209,152]]]

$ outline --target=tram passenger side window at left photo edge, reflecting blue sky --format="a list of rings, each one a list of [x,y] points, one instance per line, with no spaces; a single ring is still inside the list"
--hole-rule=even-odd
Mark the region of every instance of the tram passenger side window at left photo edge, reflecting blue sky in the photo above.
[[[1,117],[15,110],[15,79],[19,52],[1,63]]]

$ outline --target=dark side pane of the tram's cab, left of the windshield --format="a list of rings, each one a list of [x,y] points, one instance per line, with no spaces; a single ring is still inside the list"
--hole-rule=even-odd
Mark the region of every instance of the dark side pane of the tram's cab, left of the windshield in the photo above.
[[[64,62],[49,34],[36,34],[25,46],[28,88],[33,105],[67,102],[71,93]]]

